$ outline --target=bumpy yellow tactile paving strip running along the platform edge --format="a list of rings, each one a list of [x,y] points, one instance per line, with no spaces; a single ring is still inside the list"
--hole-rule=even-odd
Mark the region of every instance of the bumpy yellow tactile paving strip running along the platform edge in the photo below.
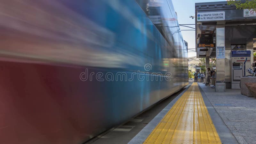
[[[196,83],[184,92],[144,143],[221,143]]]

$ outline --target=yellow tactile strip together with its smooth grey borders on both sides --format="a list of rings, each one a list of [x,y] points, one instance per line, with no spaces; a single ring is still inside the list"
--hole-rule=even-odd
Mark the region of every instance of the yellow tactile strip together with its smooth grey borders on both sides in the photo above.
[[[238,142],[202,89],[192,83],[129,142],[135,143]]]

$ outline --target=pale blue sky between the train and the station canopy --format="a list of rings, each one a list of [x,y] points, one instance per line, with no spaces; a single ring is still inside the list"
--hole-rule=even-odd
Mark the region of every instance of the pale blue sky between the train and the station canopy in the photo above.
[[[175,11],[178,15],[179,24],[195,24],[195,19],[189,18],[189,16],[195,16],[195,3],[204,2],[219,2],[226,0],[172,0]],[[195,28],[194,25],[187,25]],[[186,27],[180,27],[181,30],[192,29]],[[188,42],[188,48],[194,49],[196,47],[195,31],[181,31],[183,39]],[[188,57],[196,56],[196,52],[188,52]]]

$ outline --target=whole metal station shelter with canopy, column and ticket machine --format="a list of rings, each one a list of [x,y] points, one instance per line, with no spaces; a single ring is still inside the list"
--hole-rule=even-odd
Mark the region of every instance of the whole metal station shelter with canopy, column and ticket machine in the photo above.
[[[242,1],[244,2],[244,1]],[[216,92],[240,89],[256,50],[256,12],[227,2],[196,3],[196,56],[216,58]]]

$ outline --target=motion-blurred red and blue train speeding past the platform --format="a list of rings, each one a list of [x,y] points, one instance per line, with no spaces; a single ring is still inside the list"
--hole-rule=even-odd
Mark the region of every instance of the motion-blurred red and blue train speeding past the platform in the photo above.
[[[81,144],[188,84],[171,0],[1,0],[0,45],[1,144]]]

